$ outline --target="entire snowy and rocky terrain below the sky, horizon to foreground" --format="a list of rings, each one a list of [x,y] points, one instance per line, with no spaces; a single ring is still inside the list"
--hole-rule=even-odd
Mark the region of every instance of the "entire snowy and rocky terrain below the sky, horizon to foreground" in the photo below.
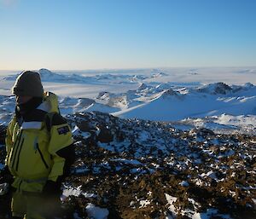
[[[68,218],[255,216],[256,67],[39,72],[76,141]],[[3,127],[17,73],[0,72]]]

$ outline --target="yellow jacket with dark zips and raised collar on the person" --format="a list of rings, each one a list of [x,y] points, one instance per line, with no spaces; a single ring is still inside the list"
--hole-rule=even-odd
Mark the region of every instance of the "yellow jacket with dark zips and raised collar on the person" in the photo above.
[[[28,118],[20,122],[15,115],[9,123],[5,164],[16,189],[40,193],[47,180],[56,182],[63,175],[66,160],[57,152],[72,145],[73,137],[66,120],[54,112],[59,112],[57,96],[45,93]]]

